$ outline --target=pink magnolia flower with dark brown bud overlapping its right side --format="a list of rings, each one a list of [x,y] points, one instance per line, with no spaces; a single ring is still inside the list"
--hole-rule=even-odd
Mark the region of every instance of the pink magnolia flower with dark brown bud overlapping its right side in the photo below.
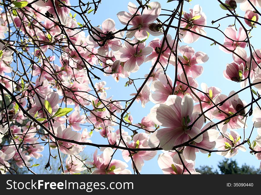
[[[232,96],[235,94],[235,91],[231,91],[228,96]],[[219,104],[220,102],[227,99],[226,95],[218,95],[215,97],[213,102],[215,104]],[[221,111],[219,111],[217,108],[213,111],[212,115],[214,118],[218,120],[224,120],[227,117],[232,116],[239,110],[241,110],[244,106],[246,106],[246,102],[241,99],[239,99],[238,94],[233,95],[231,98],[229,98],[227,101],[225,101],[221,106],[218,106]],[[245,125],[244,114],[246,113],[246,109],[242,110],[238,115],[234,116],[233,118],[227,119],[224,123],[220,123],[218,125],[219,129],[222,130],[223,133],[227,131],[227,128],[229,129],[239,129],[243,128]]]

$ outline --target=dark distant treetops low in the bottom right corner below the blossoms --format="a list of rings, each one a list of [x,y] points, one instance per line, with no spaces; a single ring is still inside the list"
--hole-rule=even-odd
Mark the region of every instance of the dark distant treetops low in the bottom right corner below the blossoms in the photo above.
[[[241,167],[235,160],[224,159],[219,162],[219,171],[211,166],[200,166],[196,169],[201,174],[261,174],[260,169],[256,169],[254,166],[250,167],[247,164],[243,164]]]

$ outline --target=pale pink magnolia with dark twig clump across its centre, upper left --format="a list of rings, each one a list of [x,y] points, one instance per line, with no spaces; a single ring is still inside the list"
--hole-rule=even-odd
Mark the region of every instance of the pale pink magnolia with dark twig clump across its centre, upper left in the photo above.
[[[105,44],[103,47],[98,48],[98,54],[101,56],[106,56],[109,53],[109,48],[111,48],[113,51],[118,51],[120,47],[122,46],[122,42],[120,39],[117,39],[116,37],[122,38],[124,35],[124,32],[120,32],[117,34],[114,34],[117,30],[115,28],[115,22],[111,18],[105,20],[101,24],[101,28],[99,27],[93,27],[93,31],[96,34],[99,34],[102,38],[99,38],[96,34],[93,34],[92,36],[88,36],[86,38],[86,42],[88,46],[90,47],[98,47],[98,43],[96,40],[99,40],[98,42],[100,44]],[[94,40],[94,39],[96,40]]]

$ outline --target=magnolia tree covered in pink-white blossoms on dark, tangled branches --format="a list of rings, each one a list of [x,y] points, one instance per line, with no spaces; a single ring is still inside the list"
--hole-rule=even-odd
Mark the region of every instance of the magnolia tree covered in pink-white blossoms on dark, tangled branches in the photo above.
[[[50,159],[56,158],[65,174],[139,174],[152,158],[164,174],[198,174],[196,153],[230,158],[246,148],[261,160],[261,50],[251,42],[259,34],[261,1],[217,2],[213,12],[223,9],[224,16],[210,25],[201,1],[164,1],[170,6],[163,9],[162,1],[136,0],[126,4],[128,11],[115,13],[121,24],[108,18],[97,26],[89,16],[99,12],[101,0],[3,0],[1,174],[22,167],[37,173],[43,155],[48,158],[41,169],[51,173]],[[225,19],[232,24],[222,31],[218,22]],[[210,37],[210,30],[224,41]],[[209,57],[191,45],[203,39],[233,58],[219,64],[219,77],[241,90],[223,94],[207,80],[198,83]],[[151,66],[137,78],[145,62]],[[115,80],[111,86],[108,77]],[[128,98],[107,96],[122,85]],[[251,100],[242,100],[240,92]],[[131,115],[134,106],[140,110],[148,102],[154,104],[148,115]],[[90,148],[97,149],[86,161],[82,154]],[[61,153],[68,155],[65,161]]]

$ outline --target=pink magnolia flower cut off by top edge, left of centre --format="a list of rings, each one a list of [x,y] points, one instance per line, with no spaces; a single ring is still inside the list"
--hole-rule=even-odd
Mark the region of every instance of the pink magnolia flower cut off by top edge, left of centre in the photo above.
[[[62,1],[64,4],[66,4],[67,6],[71,6],[69,0],[63,0]],[[55,14],[55,10],[54,7],[52,5],[52,1],[36,1],[35,4],[38,5],[39,7],[42,7],[43,11],[48,11],[51,14],[54,15],[54,19],[58,20],[58,17],[61,20],[61,24],[62,25],[66,25],[67,23],[67,15],[70,13],[70,9],[63,6],[63,4],[60,3],[60,1],[55,0],[55,7],[58,13],[58,16]]]

